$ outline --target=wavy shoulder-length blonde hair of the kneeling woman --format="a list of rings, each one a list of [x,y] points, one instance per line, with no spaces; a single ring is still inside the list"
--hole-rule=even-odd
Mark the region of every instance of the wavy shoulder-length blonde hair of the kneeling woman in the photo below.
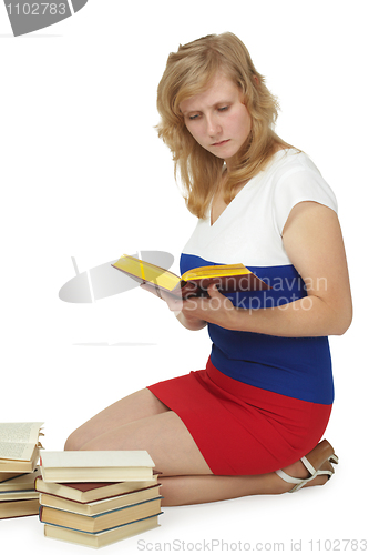
[[[245,44],[233,33],[208,34],[172,52],[157,88],[161,122],[158,137],[172,151],[174,172],[180,170],[188,210],[204,218],[222,175],[224,161],[201,147],[188,132],[180,104],[204,92],[223,71],[242,91],[252,118],[252,131],[227,172],[224,200],[228,204],[240,183],[265,168],[276,144],[285,143],[274,132],[278,115],[277,99],[265,85]]]

